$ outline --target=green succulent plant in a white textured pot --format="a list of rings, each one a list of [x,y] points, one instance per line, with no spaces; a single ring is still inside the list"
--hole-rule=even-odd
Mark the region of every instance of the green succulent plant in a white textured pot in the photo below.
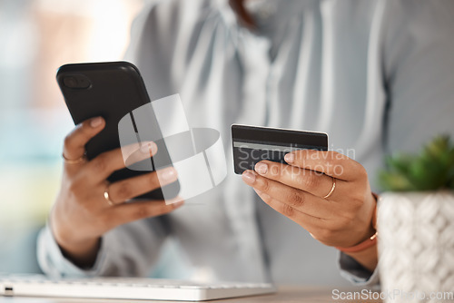
[[[380,283],[387,302],[452,302],[454,144],[439,136],[380,172]]]

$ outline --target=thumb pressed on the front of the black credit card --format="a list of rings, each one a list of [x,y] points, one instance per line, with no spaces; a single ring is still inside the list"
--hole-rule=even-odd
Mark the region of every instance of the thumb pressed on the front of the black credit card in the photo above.
[[[354,181],[367,176],[360,163],[339,152],[299,150],[287,153],[284,159],[292,166],[320,171],[343,181]]]

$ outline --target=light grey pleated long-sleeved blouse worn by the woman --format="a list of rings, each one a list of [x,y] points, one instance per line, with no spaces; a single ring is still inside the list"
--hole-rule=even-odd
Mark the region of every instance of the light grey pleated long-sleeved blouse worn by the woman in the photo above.
[[[44,272],[146,276],[171,239],[171,262],[182,266],[173,278],[377,282],[377,272],[345,255],[338,263],[335,249],[233,174],[230,125],[328,132],[330,149],[360,161],[377,191],[385,153],[454,133],[454,1],[255,0],[248,9],[255,33],[224,0],[153,1],[133,24],[126,54],[152,100],[180,93],[192,127],[221,132],[226,180],[170,215],[105,234],[93,269],[64,259],[45,228]]]

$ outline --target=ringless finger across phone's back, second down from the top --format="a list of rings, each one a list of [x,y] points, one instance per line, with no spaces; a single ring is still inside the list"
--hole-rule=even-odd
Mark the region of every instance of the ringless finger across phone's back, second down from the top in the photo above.
[[[132,144],[132,146],[123,147],[122,149],[118,148],[113,151],[103,152],[92,161],[89,161],[86,165],[86,170],[84,170],[84,178],[86,178],[86,181],[104,182],[114,171],[126,167],[125,161],[128,162],[128,167],[131,167],[131,165],[137,161],[150,158],[156,154],[158,150],[156,143],[154,142],[146,142],[146,144],[143,144],[143,148],[131,153],[133,147],[137,147],[137,144]],[[127,159],[125,159],[126,157],[123,155],[122,150],[124,149],[127,150],[125,154],[129,155]],[[141,162],[140,171],[153,171],[152,161]]]

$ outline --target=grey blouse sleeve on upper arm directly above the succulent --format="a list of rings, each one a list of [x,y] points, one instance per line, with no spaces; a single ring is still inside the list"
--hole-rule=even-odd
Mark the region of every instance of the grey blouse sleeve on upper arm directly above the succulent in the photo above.
[[[383,54],[389,95],[385,148],[418,152],[438,134],[454,135],[454,2],[389,4],[394,16]]]

